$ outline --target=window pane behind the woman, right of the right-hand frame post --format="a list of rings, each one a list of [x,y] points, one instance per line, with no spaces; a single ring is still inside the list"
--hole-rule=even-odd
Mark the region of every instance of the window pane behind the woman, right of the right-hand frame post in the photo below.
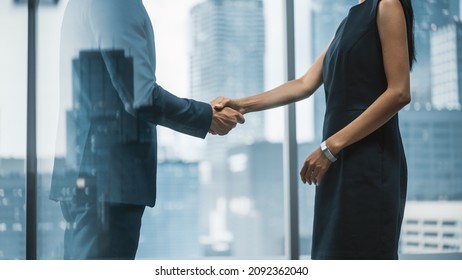
[[[304,1],[296,1],[300,7]],[[340,21],[349,8],[358,1],[308,1],[310,22],[296,15],[296,38],[309,39],[308,60],[305,46],[297,43],[297,69],[302,75],[314,59],[324,50],[333,37]],[[458,141],[462,127],[459,59],[462,32],[460,30],[460,1],[413,1],[415,14],[415,41],[417,63],[411,73],[412,102],[399,113],[400,128],[408,167],[408,189],[405,216],[402,224],[399,253],[401,258],[462,258],[460,252],[462,197],[460,167],[462,154]],[[299,12],[303,8],[297,8]],[[306,35],[308,34],[308,35]],[[296,41],[297,41],[296,40]],[[302,54],[300,54],[302,52]],[[301,61],[301,62],[300,62]],[[306,63],[305,63],[306,62]],[[306,143],[299,138],[303,163],[306,156],[321,142],[324,119],[324,90],[314,97],[313,125]],[[302,114],[302,112],[299,112]],[[308,115],[309,117],[310,115]],[[298,123],[307,116],[298,116]],[[298,128],[303,129],[303,128]],[[303,154],[303,151],[306,151]],[[301,187],[309,194],[308,200],[301,195],[302,253],[305,235],[310,235],[311,223],[303,224],[312,217],[311,189]],[[306,202],[308,201],[308,202]],[[303,209],[306,204],[308,210]],[[307,256],[310,254],[308,250]],[[437,254],[437,255],[434,255]]]

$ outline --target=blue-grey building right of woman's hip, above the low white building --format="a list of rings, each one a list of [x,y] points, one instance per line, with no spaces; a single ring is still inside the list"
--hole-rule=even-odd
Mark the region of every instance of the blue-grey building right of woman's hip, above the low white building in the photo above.
[[[462,111],[403,111],[408,199],[462,200]]]

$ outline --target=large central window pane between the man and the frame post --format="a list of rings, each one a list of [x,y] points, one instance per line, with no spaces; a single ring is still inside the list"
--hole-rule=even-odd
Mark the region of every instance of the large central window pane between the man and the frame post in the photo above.
[[[282,82],[282,1],[180,3],[145,2],[160,84],[209,102]],[[278,118],[278,110],[252,113],[205,141],[159,128],[157,203],[145,213],[138,257],[283,257]]]

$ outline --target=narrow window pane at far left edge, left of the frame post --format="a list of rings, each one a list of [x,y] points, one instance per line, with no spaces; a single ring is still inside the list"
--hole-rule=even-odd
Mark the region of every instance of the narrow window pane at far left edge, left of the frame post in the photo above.
[[[0,1],[0,259],[24,259],[27,7]]]

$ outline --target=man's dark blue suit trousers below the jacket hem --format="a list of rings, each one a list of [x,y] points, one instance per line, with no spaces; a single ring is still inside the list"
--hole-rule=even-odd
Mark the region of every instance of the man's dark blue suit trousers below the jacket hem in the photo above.
[[[66,220],[64,259],[135,259],[144,205],[78,198],[60,204]]]

